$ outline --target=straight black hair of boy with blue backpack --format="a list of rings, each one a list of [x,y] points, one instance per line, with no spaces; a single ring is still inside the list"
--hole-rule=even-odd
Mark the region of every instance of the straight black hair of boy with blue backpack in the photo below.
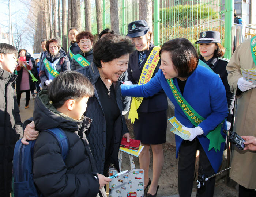
[[[48,87],[49,99],[56,109],[69,99],[79,101],[93,94],[94,86],[83,74],[76,71],[61,72]]]

